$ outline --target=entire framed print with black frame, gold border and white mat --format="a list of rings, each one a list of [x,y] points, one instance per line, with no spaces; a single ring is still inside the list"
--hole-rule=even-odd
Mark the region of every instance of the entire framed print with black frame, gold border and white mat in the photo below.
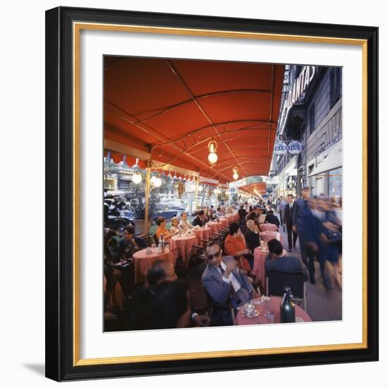
[[[47,377],[377,360],[377,38],[47,11]]]

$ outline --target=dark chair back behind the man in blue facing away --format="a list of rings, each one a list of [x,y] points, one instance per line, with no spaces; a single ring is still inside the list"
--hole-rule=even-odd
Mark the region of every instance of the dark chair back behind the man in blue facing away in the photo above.
[[[299,305],[303,301],[303,308],[307,312],[307,294],[305,287],[305,273],[303,271],[279,271],[271,269],[267,272],[267,296],[283,296],[284,287],[289,286],[293,300]]]

